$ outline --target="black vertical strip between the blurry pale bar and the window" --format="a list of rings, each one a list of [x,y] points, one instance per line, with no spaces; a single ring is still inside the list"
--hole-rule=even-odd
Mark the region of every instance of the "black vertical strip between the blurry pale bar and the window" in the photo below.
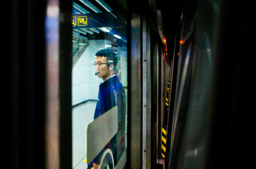
[[[72,1],[60,1],[60,168],[72,168]]]

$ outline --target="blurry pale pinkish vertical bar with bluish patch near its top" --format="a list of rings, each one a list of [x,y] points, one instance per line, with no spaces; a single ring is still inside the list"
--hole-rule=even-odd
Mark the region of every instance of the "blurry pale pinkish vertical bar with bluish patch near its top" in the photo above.
[[[47,2],[46,34],[46,97],[45,153],[46,168],[60,168],[60,98],[59,98],[59,18],[58,0]]]

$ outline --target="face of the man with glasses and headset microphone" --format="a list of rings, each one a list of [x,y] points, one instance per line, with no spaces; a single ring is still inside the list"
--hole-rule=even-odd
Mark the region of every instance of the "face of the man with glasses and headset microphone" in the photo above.
[[[108,63],[107,57],[97,56],[95,59],[95,70],[98,72],[97,77],[102,78],[103,80],[105,80],[106,77],[108,77],[110,74],[110,71],[108,70],[108,64],[106,63]]]

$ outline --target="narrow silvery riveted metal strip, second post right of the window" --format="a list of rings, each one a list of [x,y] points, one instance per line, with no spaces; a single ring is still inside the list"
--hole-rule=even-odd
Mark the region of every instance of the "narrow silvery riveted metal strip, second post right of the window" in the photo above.
[[[150,24],[142,21],[142,168],[151,168],[151,66]]]

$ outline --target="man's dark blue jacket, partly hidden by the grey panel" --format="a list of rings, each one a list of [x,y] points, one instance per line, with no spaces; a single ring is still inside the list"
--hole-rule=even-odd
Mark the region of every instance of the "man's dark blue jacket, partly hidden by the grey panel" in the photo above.
[[[126,99],[124,87],[115,75],[106,79],[99,86],[98,101],[95,108],[94,119],[107,112],[109,109],[118,107],[118,131],[105,148],[110,148],[113,152],[114,161],[118,160],[125,149],[125,114],[126,114]],[[93,159],[92,163],[99,162],[100,156],[104,149]],[[92,163],[88,167],[92,167]]]

